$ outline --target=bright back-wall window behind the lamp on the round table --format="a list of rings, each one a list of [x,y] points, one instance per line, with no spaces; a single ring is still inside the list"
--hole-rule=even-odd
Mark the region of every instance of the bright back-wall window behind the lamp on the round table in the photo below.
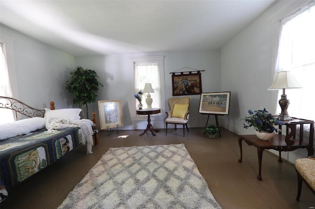
[[[143,90],[145,83],[151,83],[154,89],[154,93],[150,93],[151,98],[153,99],[152,107],[165,109],[165,93],[164,93],[164,56],[145,56],[132,60],[133,71],[134,71],[134,93],[139,90]],[[142,97],[143,108],[147,107],[145,102],[146,93]],[[135,110],[138,109],[138,101],[133,97],[132,108],[133,116],[137,116]],[[162,111],[161,111],[162,112]],[[155,116],[159,116],[157,114]],[[134,118],[134,120],[137,120]]]

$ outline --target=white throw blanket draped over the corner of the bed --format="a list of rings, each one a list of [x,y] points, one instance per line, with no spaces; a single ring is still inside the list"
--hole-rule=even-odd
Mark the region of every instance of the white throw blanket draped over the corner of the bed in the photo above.
[[[46,129],[48,133],[68,127],[80,127],[82,130],[82,144],[87,146],[87,154],[93,153],[93,125],[93,121],[88,119],[70,120],[48,118],[46,121]]]

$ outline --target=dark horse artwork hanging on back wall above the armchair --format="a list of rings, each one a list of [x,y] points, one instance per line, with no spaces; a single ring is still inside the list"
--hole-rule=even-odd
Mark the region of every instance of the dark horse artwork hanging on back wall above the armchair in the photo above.
[[[172,75],[173,96],[201,94],[201,74]]]

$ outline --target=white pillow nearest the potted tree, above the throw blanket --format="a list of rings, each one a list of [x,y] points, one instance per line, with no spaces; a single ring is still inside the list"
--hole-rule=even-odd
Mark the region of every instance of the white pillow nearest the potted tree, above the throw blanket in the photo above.
[[[45,108],[44,118],[79,120],[81,118],[79,115],[80,112],[81,109],[79,108],[65,108],[55,110]]]

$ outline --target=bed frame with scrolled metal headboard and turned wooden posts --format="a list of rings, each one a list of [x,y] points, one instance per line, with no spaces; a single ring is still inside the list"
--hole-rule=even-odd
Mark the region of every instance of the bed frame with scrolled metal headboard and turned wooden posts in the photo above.
[[[27,116],[29,118],[32,118],[32,117],[43,118],[45,116],[44,109],[36,109],[28,104],[21,102],[20,100],[10,98],[10,97],[0,96],[0,108],[14,110],[15,120],[18,119],[18,113],[24,116]],[[55,109],[54,102],[50,102],[50,109],[51,110]],[[94,140],[94,144],[97,145],[98,144],[98,130],[96,129],[97,127],[96,112],[93,112],[92,115],[93,115],[92,121],[95,124],[95,126],[93,127],[93,131],[94,131],[93,140]]]

